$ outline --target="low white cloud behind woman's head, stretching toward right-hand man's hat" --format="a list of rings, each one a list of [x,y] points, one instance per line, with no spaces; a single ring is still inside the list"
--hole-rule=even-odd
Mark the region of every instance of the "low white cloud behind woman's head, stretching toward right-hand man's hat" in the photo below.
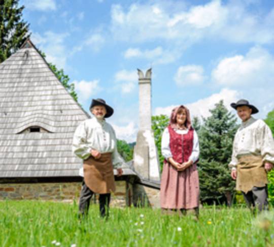
[[[230,104],[236,102],[242,95],[236,90],[231,90],[228,88],[222,89],[218,94],[213,94],[210,97],[200,99],[196,102],[184,104],[190,110],[191,117],[208,117],[210,116],[210,109],[214,108],[214,105],[220,100],[224,101],[224,105],[228,110],[232,110]],[[178,104],[179,105],[179,104]],[[176,107],[175,105],[167,107],[157,107],[155,109],[155,115],[165,114],[170,115],[172,109]]]

